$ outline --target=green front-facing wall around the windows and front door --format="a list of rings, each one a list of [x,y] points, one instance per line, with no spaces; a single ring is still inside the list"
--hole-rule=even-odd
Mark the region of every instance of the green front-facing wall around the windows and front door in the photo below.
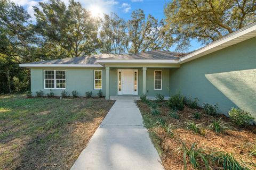
[[[124,68],[122,68],[124,69]],[[128,68],[129,69],[129,68]],[[134,68],[131,68],[134,69]],[[32,68],[31,69],[31,91],[35,95],[36,91],[43,90],[46,95],[50,89],[44,89],[44,70],[66,70],[66,91],[68,95],[72,95],[73,90],[78,91],[79,96],[85,96],[86,91],[92,91],[93,96],[97,96],[99,90],[93,89],[93,71],[102,70],[102,92],[105,95],[106,91],[106,71],[105,68]],[[163,71],[163,88],[162,90],[154,90],[154,70]],[[170,88],[170,69],[147,69],[147,96],[154,97],[157,93],[169,96]],[[109,71],[109,94],[110,96],[117,96],[117,68],[110,68]],[[52,89],[55,96],[60,96],[63,89]],[[138,96],[142,95],[142,68],[138,68]]]

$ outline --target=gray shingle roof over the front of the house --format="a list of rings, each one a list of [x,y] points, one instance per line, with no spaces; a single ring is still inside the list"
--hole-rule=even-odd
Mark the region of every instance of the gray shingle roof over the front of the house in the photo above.
[[[75,58],[63,58],[26,64],[97,64],[97,60],[179,60],[184,53],[149,51],[136,54],[100,54]]]

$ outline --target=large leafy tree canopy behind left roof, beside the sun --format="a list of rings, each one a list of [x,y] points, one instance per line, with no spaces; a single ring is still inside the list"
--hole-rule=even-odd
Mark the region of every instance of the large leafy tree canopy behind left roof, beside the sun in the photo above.
[[[66,6],[62,1],[40,2],[42,10],[34,7],[36,30],[43,36],[51,48],[58,44],[70,57],[79,57],[95,53],[98,48],[98,21],[90,12],[73,0]],[[59,51],[59,50],[58,50]]]

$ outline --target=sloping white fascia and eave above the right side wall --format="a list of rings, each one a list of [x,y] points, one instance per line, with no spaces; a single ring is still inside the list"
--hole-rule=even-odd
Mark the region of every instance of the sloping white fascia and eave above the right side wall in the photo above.
[[[228,35],[226,37],[223,37],[223,38],[221,38],[217,41],[214,41],[213,43],[211,43],[209,45],[206,45],[205,47],[203,47],[201,49],[198,49],[193,53],[190,53],[190,54],[188,54],[184,57],[181,57],[180,60],[179,60],[179,63],[182,64],[182,63],[185,63],[187,61],[191,61],[191,60],[193,60],[197,57],[200,57],[200,54],[206,52],[207,50],[210,50],[210,49],[218,47],[222,44],[228,43],[229,41],[232,41],[232,40],[234,40],[238,37],[242,37],[242,36],[246,35],[247,33],[250,33],[250,32],[255,31],[255,30],[256,30],[256,22],[248,25],[247,27],[245,27],[243,29],[237,30],[236,32],[230,33],[230,35]],[[248,37],[247,39],[250,39],[250,38],[252,38],[252,37]],[[204,56],[204,54],[202,54],[202,56]]]

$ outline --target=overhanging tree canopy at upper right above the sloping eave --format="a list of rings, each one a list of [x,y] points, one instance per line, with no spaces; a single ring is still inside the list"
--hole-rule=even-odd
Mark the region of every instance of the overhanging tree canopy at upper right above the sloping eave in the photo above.
[[[186,50],[191,38],[207,44],[255,22],[256,1],[173,0],[164,12],[177,50]]]

